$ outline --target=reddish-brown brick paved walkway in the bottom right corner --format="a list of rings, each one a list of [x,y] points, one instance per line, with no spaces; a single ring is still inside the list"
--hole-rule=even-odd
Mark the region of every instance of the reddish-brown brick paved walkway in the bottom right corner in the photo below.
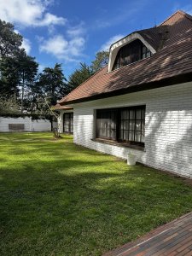
[[[192,212],[104,256],[192,256]]]

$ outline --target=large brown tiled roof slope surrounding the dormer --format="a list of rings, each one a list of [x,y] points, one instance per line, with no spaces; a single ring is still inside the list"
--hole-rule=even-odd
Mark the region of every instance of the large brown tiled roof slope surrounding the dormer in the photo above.
[[[139,33],[157,49],[154,55],[110,73],[108,67],[102,68],[59,103],[64,105],[146,90],[149,84],[155,88],[178,84],[183,79],[192,80],[192,16],[177,11],[160,26]]]

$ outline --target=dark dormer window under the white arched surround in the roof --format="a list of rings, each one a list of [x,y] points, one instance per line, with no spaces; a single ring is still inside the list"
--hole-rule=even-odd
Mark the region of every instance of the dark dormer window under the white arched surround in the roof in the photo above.
[[[119,49],[113,64],[113,70],[140,61],[151,55],[151,51],[139,39],[134,40]]]

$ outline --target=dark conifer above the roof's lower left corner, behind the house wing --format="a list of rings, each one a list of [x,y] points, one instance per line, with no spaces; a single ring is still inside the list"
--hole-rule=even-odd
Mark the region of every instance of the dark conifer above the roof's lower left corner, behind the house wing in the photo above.
[[[58,99],[66,95],[67,79],[62,73],[61,64],[56,63],[53,68],[45,67],[43,73],[39,74],[34,90],[40,90],[49,99],[50,105],[55,105]]]

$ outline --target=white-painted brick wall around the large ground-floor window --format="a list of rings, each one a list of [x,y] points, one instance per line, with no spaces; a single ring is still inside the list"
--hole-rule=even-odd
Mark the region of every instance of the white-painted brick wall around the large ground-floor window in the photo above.
[[[146,105],[145,151],[91,141],[98,108]],[[137,161],[182,176],[192,177],[192,83],[74,104],[74,143]]]

